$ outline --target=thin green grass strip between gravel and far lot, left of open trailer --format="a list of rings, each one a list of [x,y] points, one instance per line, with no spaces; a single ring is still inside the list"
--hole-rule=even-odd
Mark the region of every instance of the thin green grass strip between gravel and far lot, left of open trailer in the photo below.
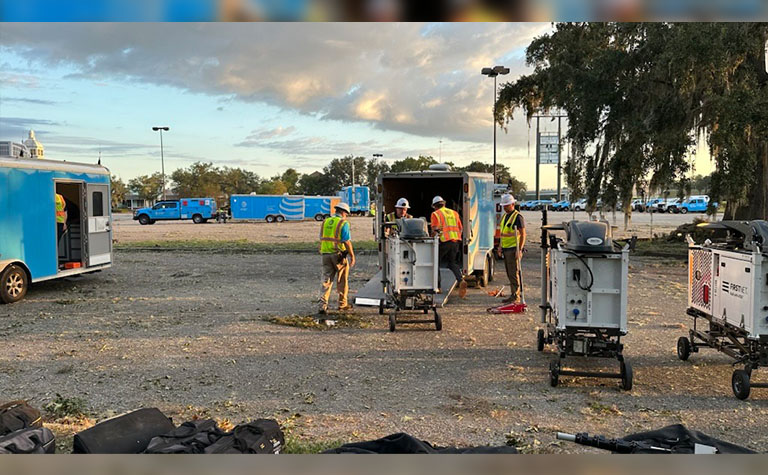
[[[376,241],[352,241],[355,251],[378,250]],[[213,239],[186,240],[150,240],[136,242],[118,242],[117,250],[173,250],[173,251],[208,251],[208,252],[318,252],[317,241],[310,242],[251,242],[245,239],[216,241]]]

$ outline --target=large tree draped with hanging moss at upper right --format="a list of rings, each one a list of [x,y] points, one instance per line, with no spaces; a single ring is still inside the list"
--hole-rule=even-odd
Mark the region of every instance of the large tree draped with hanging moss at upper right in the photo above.
[[[560,109],[572,157],[566,177],[598,197],[654,193],[689,171],[699,131],[717,165],[713,198],[726,218],[768,214],[768,25],[569,23],[526,50],[532,74],[502,86],[496,120]],[[578,193],[577,193],[578,195]],[[628,221],[625,220],[625,225]]]

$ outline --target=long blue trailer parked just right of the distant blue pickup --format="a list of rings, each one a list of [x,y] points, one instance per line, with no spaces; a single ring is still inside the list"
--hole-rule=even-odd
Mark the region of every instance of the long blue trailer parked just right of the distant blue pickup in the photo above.
[[[232,219],[259,220],[268,223],[304,219],[303,196],[232,195],[229,202]]]

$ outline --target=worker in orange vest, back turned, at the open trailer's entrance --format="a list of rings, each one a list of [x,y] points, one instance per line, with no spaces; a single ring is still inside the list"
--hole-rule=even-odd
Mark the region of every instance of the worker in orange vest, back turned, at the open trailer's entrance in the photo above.
[[[456,211],[446,208],[445,200],[441,196],[432,199],[432,212],[430,224],[431,235],[440,236],[440,267],[447,267],[456,276],[459,284],[459,297],[467,295],[467,283],[461,275],[461,244],[462,232],[461,217]]]

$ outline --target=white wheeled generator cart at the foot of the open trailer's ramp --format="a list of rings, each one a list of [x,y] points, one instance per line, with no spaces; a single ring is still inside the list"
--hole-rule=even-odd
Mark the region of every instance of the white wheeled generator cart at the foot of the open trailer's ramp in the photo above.
[[[384,266],[382,286],[385,298],[380,300],[379,313],[389,309],[389,331],[398,323],[434,323],[442,330],[435,295],[440,289],[439,248],[437,236],[430,237],[424,218],[401,218],[385,224]],[[434,313],[429,320],[400,319],[405,311]]]

